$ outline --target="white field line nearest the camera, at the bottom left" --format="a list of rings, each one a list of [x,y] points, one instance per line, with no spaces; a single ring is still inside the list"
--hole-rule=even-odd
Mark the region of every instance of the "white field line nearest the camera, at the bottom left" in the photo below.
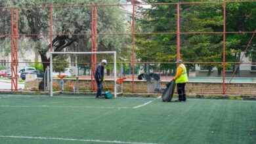
[[[156,143],[125,142],[125,141],[103,141],[103,140],[97,140],[97,139],[71,139],[71,138],[62,138],[62,137],[28,137],[28,136],[14,136],[14,135],[0,135],[0,137],[20,138],[20,139],[50,139],[50,140],[62,140],[62,141],[87,141],[87,142],[98,142],[98,143],[156,144]]]

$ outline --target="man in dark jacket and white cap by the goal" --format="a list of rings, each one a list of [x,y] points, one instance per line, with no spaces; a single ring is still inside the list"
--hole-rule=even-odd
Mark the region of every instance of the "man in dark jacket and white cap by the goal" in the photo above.
[[[104,80],[104,66],[108,64],[106,60],[102,60],[100,63],[98,63],[96,71],[95,71],[95,80],[97,84],[97,93],[96,98],[101,98],[102,93],[102,81]]]

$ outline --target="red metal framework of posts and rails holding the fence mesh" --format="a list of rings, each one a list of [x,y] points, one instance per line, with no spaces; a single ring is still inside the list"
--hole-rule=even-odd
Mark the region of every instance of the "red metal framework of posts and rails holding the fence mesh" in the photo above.
[[[180,7],[181,5],[195,5],[195,4],[202,4],[202,2],[198,3],[147,3],[147,4],[135,4],[135,0],[132,1],[133,6],[133,22],[132,22],[132,33],[97,33],[97,27],[96,27],[96,22],[97,22],[97,7],[98,6],[117,6],[117,5],[64,5],[64,6],[47,6],[49,8],[49,14],[50,14],[50,34],[24,34],[22,36],[34,36],[34,35],[45,35],[47,37],[50,36],[51,39],[51,51],[53,51],[53,35],[66,35],[64,33],[53,33],[53,7],[54,8],[63,8],[63,7],[91,7],[91,33],[85,33],[85,34],[77,34],[73,33],[70,35],[91,35],[91,51],[96,52],[97,46],[96,46],[96,37],[97,35],[132,35],[132,60],[131,63],[133,65],[133,82],[132,82],[132,92],[134,92],[134,86],[135,86],[135,36],[136,35],[160,35],[160,34],[176,34],[177,35],[177,59],[181,58],[180,54],[180,46],[181,46],[181,35],[190,35],[190,34],[200,34],[200,33],[208,33],[208,34],[223,34],[223,62],[186,62],[186,63],[222,63],[223,64],[223,92],[222,94],[226,94],[226,90],[228,88],[228,85],[225,85],[225,64],[230,63],[226,62],[225,58],[225,50],[226,50],[226,34],[228,33],[253,33],[253,36],[255,34],[255,31],[226,31],[226,5],[228,3],[235,3],[235,2],[210,2],[210,3],[219,3],[223,5],[223,31],[219,32],[213,32],[213,31],[191,31],[191,32],[186,32],[186,31],[181,31],[180,29]],[[242,2],[250,2],[250,1],[239,1],[239,3]],[[208,2],[205,2],[208,3]],[[177,31],[176,32],[166,32],[166,33],[135,33],[135,7],[136,5],[177,5]],[[40,7],[20,7],[20,8],[43,8],[44,6]],[[4,37],[10,37],[11,36],[11,59],[12,61],[9,62],[11,63],[11,89],[12,90],[17,90],[18,89],[18,8],[8,8],[11,9],[11,35],[7,34],[0,34],[0,36]],[[250,42],[249,42],[250,43]],[[248,46],[247,46],[248,47]],[[245,49],[245,51],[247,48]],[[242,56],[243,57],[243,56]],[[150,62],[148,62],[150,63]],[[154,63],[154,62],[151,62]],[[235,63],[235,62],[232,62]],[[241,62],[237,62],[238,65]],[[93,73],[95,73],[96,69],[96,54],[92,54],[91,57],[91,84],[92,84],[92,90],[96,90],[96,83],[93,80]],[[236,71],[233,73],[232,78],[234,77]],[[230,79],[231,81],[232,79]],[[226,88],[225,88],[226,86]]]

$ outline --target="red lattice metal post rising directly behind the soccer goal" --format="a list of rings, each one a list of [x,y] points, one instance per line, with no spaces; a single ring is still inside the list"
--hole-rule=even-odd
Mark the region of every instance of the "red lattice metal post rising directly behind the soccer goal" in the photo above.
[[[91,52],[97,51],[97,7],[91,7]],[[96,82],[93,74],[96,70],[96,54],[91,55],[91,90],[96,90]]]

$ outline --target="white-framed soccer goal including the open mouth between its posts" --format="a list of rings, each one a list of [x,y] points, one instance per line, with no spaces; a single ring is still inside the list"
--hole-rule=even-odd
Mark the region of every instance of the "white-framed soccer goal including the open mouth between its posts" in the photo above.
[[[92,64],[92,58],[96,63]],[[117,96],[117,73],[116,73],[116,51],[106,52],[50,52],[50,94],[62,92],[91,92],[95,90],[96,82],[92,69],[101,60],[107,60],[108,84],[104,82],[103,87],[114,91],[114,98]],[[104,74],[106,75],[106,73]],[[92,81],[93,79],[93,81]],[[93,82],[95,82],[93,84]],[[106,86],[106,87],[105,87]],[[93,88],[94,87],[94,88]]]

